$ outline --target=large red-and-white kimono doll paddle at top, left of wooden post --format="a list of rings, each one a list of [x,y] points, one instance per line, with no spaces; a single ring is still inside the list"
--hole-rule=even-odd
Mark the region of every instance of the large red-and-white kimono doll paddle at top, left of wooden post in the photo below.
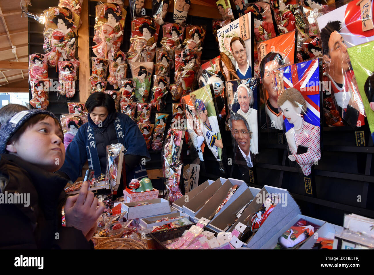
[[[56,67],[57,61],[74,58],[79,16],[66,7],[51,7],[43,12],[46,18],[43,50],[48,64]]]

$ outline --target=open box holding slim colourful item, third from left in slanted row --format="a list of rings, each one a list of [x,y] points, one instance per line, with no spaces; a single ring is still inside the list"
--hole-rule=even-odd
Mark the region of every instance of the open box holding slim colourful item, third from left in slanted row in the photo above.
[[[217,210],[217,208],[220,206],[224,198],[227,197],[227,193],[229,192],[230,188],[232,188],[234,185],[238,185],[238,188],[236,189],[232,197],[227,201],[227,203],[222,207],[220,212],[226,209],[245,190],[248,190],[248,186],[243,180],[237,180],[237,179],[231,179],[231,178],[227,179],[226,182],[220,187],[220,189],[218,189],[217,192],[215,192],[215,194],[208,201],[208,203],[206,203],[200,209],[200,211],[196,214],[195,222],[197,222],[201,218],[209,219],[209,216],[211,216],[214,213],[214,211]]]

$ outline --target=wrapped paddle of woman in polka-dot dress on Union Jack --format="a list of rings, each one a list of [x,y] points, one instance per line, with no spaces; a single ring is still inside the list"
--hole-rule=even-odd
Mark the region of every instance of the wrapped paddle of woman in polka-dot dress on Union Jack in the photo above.
[[[289,148],[288,159],[295,161],[308,176],[321,158],[322,60],[312,59],[276,70],[277,104]]]

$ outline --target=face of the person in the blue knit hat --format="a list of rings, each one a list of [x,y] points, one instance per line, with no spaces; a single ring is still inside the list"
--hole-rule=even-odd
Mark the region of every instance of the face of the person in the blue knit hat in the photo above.
[[[28,127],[17,141],[13,145],[7,145],[6,149],[48,172],[59,170],[65,161],[62,130],[49,116]]]

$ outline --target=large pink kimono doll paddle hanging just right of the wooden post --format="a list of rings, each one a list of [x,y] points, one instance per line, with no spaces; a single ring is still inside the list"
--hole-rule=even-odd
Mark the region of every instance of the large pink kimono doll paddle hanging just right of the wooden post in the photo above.
[[[123,38],[126,11],[115,3],[96,6],[93,53],[99,58],[108,58],[108,53],[119,50]]]

